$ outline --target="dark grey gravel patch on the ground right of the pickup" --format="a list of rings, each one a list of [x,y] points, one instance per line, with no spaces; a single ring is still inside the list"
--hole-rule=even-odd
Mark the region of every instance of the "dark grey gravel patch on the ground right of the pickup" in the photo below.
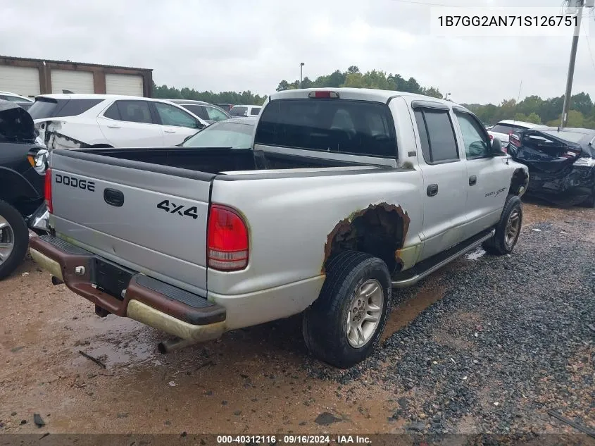
[[[595,218],[585,215],[525,227],[511,256],[456,261],[436,279],[439,302],[372,358],[349,371],[311,361],[308,372],[343,385],[379,383],[395,395],[388,421],[408,430],[568,428],[550,409],[593,428]]]

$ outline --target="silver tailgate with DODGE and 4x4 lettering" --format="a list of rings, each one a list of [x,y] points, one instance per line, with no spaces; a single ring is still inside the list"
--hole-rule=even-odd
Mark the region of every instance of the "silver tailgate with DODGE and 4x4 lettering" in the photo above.
[[[56,235],[135,271],[206,295],[215,175],[82,151],[51,154]]]

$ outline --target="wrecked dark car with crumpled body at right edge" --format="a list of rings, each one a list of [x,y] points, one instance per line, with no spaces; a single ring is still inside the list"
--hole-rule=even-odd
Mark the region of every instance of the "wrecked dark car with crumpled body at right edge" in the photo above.
[[[546,128],[511,135],[509,152],[529,168],[527,194],[595,207],[595,130]]]

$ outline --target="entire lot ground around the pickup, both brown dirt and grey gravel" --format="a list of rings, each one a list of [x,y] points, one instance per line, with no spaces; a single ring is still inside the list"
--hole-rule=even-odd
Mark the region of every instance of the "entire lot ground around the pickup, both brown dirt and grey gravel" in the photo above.
[[[0,433],[577,433],[551,409],[595,428],[592,209],[526,204],[511,256],[398,292],[349,371],[308,357],[299,317],[163,356],[163,333],[98,318],[32,261],[0,295]]]

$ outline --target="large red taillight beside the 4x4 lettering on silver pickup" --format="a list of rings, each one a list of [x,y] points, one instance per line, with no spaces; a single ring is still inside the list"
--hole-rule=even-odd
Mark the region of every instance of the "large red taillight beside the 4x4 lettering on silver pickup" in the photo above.
[[[239,214],[213,204],[208,214],[207,263],[220,271],[237,271],[248,266],[248,229]]]

